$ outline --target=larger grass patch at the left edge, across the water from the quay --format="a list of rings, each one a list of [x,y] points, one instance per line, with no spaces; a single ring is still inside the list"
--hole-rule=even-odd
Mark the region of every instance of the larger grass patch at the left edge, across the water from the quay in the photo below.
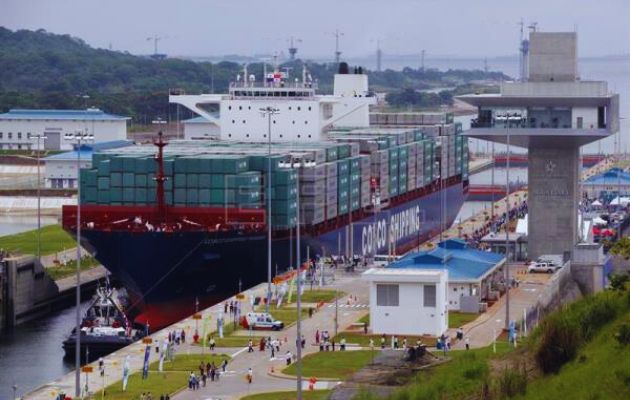
[[[42,255],[76,247],[77,242],[61,225],[48,225],[41,230]],[[15,235],[0,236],[0,248],[21,254],[37,254],[37,229]]]

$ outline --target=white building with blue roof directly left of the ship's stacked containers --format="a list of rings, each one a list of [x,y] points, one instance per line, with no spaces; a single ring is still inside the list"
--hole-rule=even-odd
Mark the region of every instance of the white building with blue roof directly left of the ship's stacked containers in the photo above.
[[[44,158],[45,186],[51,189],[75,189],[77,187],[77,163],[81,168],[92,168],[92,155],[101,150],[131,146],[130,140],[113,140],[82,145],[72,151]]]

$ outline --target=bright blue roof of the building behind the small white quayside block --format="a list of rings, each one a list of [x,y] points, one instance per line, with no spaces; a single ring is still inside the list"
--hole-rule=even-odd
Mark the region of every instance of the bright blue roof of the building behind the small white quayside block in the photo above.
[[[477,281],[504,259],[502,254],[469,248],[463,240],[448,239],[435,249],[407,254],[388,268],[446,269],[449,281]]]

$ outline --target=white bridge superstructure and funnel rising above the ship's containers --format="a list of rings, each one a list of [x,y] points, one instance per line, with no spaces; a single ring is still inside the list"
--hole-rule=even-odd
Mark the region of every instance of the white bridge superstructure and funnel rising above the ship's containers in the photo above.
[[[244,68],[227,94],[171,95],[169,101],[219,126],[221,140],[268,142],[271,132],[272,142],[318,142],[331,128],[369,126],[376,97],[367,75],[342,72],[335,75],[332,95],[317,94],[317,82],[306,69],[302,79],[291,81],[278,71],[258,80]],[[266,108],[274,111],[271,116],[262,112]]]

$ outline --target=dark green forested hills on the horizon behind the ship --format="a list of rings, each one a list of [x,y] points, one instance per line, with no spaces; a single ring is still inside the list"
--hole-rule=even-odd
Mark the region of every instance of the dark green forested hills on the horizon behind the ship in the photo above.
[[[296,60],[283,63],[299,73],[303,63],[319,83],[321,93],[332,92],[333,63]],[[225,93],[241,72],[235,62],[195,62],[178,58],[153,59],[127,52],[98,49],[70,35],[44,30],[0,27],[0,112],[11,108],[98,107],[130,116],[136,123],[168,117],[169,92]],[[262,76],[262,63],[248,65]],[[507,79],[500,72],[405,68],[402,71],[366,71],[375,91],[389,93],[394,106],[435,107],[452,102],[452,91],[420,92],[436,87],[457,87],[471,81]],[[89,96],[89,98],[87,97]],[[183,115],[182,117],[186,117]]]

